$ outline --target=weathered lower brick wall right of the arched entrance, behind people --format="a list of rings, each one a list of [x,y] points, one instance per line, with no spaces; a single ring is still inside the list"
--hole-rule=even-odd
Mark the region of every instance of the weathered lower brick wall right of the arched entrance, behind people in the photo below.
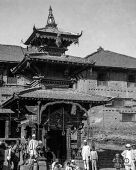
[[[97,142],[125,144],[136,142],[136,123],[122,122],[122,114],[116,108],[93,107],[89,111],[90,137]],[[86,126],[86,125],[85,125]]]

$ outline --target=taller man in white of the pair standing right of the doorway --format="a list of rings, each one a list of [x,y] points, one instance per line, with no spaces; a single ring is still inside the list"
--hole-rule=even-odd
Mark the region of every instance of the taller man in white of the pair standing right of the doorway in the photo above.
[[[82,147],[82,159],[84,161],[85,170],[89,170],[90,157],[91,157],[90,146],[87,144],[87,140],[84,140],[84,145]]]

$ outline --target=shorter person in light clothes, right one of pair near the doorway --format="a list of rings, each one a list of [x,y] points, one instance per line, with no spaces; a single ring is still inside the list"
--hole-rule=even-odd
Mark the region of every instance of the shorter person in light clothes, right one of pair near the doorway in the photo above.
[[[97,170],[98,154],[94,146],[92,147],[92,151],[91,151],[91,161],[92,161],[92,170]]]

